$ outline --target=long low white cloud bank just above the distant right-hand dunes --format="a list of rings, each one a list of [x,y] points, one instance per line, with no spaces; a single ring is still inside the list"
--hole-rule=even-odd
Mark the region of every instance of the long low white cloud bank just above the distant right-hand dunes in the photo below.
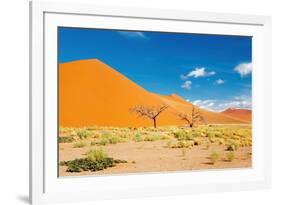
[[[252,109],[252,99],[249,96],[236,96],[231,100],[195,100],[194,105],[215,112],[221,112],[227,108]]]

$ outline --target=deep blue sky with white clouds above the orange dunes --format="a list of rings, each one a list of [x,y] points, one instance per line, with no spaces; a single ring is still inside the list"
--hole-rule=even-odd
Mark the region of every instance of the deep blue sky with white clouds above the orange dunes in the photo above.
[[[58,29],[60,63],[97,58],[146,90],[214,111],[251,108],[252,38]]]

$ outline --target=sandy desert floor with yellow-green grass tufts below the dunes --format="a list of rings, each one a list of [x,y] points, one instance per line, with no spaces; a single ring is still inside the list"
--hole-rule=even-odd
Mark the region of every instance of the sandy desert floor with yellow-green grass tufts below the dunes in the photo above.
[[[75,133],[82,130],[88,130],[88,137],[77,137]],[[191,135],[184,136],[184,133]],[[109,157],[127,163],[93,172],[69,172],[67,166],[61,165],[59,176],[248,168],[252,165],[251,126],[244,124],[198,128],[66,128],[61,129],[60,138],[73,138],[73,141],[59,143],[59,162],[82,159],[87,157],[88,151],[102,149]],[[211,158],[213,153],[218,155],[215,163]],[[228,160],[229,154],[233,155],[231,160]]]

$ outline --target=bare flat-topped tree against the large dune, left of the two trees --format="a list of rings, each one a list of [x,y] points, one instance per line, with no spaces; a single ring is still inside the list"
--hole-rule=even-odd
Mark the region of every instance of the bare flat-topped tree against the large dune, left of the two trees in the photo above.
[[[135,106],[132,109],[130,109],[132,112],[134,112],[137,117],[140,118],[148,118],[153,120],[154,128],[156,128],[156,120],[159,117],[159,115],[168,108],[168,105],[161,105],[158,107],[148,107],[148,106]]]

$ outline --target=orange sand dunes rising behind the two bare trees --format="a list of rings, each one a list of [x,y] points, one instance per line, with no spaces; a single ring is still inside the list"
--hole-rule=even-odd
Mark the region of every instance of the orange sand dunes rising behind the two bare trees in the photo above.
[[[137,105],[169,105],[157,125],[184,125],[177,113],[191,114],[192,104],[172,94],[150,93],[99,60],[79,60],[59,65],[59,125],[153,126],[137,118],[130,108]],[[244,123],[221,113],[201,109],[207,123]]]

